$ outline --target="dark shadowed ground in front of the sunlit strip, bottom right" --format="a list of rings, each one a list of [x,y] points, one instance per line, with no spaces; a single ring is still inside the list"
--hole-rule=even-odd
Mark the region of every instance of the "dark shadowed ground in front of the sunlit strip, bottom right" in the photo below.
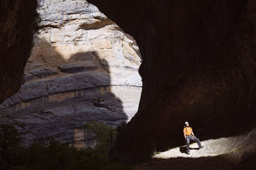
[[[255,169],[256,152],[246,153],[239,162],[230,161],[225,157],[177,157],[170,159],[150,159],[147,163],[136,166],[134,169],[165,170],[165,169]]]

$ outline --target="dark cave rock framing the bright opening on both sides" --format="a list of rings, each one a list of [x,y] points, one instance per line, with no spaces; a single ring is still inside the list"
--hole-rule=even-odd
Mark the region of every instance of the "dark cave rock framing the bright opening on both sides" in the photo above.
[[[185,121],[201,140],[252,131],[255,1],[88,2],[136,39],[143,59],[138,112],[116,139],[113,157],[141,160],[154,148],[163,151],[182,145]],[[5,11],[1,15],[1,102],[19,90],[29,57],[36,4],[26,3],[3,1],[1,6]],[[31,8],[28,13],[22,10],[25,6]],[[19,19],[20,13],[28,16],[26,20]],[[21,43],[24,37],[28,41]],[[14,49],[22,55],[17,57]]]

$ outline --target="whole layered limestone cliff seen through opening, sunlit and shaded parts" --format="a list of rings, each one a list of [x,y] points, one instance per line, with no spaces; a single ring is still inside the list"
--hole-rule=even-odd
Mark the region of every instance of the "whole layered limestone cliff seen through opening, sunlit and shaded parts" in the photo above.
[[[88,121],[111,126],[138,110],[141,59],[134,39],[86,1],[38,1],[42,21],[19,92],[0,105],[1,119],[30,133],[25,143],[93,145]],[[85,139],[86,138],[86,139]],[[86,141],[86,143],[83,143]],[[88,142],[89,141],[89,142]]]

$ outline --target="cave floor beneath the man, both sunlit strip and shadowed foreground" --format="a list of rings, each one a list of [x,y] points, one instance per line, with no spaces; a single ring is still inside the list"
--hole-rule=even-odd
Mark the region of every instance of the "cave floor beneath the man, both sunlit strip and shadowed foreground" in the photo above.
[[[256,128],[239,136],[201,141],[172,148],[154,155],[150,160],[134,169],[250,169],[255,160]]]

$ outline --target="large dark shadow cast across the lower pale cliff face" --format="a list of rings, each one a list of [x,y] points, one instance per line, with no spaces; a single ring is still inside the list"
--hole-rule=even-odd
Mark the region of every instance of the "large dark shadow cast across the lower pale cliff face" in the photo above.
[[[127,120],[122,101],[111,92],[104,56],[86,51],[65,59],[59,52],[63,47],[51,46],[45,39],[37,43],[40,46],[33,49],[25,68],[24,85],[0,105],[1,122],[12,122],[20,130],[26,124],[30,132],[22,136],[24,143],[51,138],[91,146],[93,139],[82,130],[84,123],[100,121],[115,127]]]

